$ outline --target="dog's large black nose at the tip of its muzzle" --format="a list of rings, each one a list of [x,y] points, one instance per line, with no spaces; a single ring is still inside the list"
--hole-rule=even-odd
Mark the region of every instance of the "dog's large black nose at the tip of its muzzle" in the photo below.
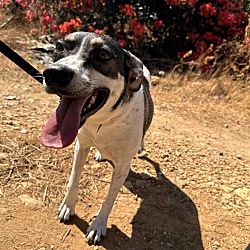
[[[51,65],[44,70],[43,76],[48,86],[63,87],[70,83],[74,72],[64,65]]]

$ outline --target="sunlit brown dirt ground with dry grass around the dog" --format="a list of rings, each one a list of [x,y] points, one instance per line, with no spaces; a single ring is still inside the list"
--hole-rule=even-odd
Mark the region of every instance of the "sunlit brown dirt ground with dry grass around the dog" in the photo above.
[[[17,34],[0,35],[19,46]],[[39,143],[58,99],[2,55],[0,86],[1,250],[244,250],[249,245],[249,83],[174,73],[156,79],[145,151],[133,159],[99,246],[89,246],[85,233],[105,198],[112,167],[96,162],[92,150],[76,216],[60,223],[57,208],[73,146],[52,150]]]

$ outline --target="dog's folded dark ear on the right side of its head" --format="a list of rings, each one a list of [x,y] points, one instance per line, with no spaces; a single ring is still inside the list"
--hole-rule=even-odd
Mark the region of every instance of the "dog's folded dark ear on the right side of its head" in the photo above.
[[[124,51],[125,67],[128,69],[128,88],[132,92],[136,92],[141,87],[143,76],[143,63],[127,50]]]

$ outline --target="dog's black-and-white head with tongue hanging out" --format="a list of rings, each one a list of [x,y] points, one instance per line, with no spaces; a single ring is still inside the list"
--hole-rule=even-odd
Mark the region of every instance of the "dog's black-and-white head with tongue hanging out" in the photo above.
[[[42,133],[46,147],[70,145],[88,117],[104,106],[112,112],[141,87],[142,62],[108,36],[72,33],[57,42],[53,58],[44,88],[62,98]]]

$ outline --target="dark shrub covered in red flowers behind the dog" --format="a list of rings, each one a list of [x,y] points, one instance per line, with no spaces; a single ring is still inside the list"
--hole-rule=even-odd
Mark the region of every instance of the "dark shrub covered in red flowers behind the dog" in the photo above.
[[[248,0],[2,0],[18,6],[42,34],[107,34],[140,56],[196,60],[224,40],[244,38]],[[246,10],[246,11],[244,11]],[[32,28],[37,33],[38,27]],[[204,67],[208,68],[208,67]]]

